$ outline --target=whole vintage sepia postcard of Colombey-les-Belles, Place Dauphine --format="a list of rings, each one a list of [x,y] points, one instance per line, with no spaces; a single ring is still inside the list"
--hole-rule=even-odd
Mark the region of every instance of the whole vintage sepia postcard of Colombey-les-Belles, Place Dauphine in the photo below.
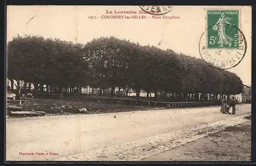
[[[251,6],[7,6],[6,161],[250,161]]]

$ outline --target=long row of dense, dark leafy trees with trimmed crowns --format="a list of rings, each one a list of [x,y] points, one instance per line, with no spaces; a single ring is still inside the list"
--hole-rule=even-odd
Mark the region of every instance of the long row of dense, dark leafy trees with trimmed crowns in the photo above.
[[[115,37],[101,37],[85,45],[44,39],[38,36],[14,37],[8,42],[8,78],[51,85],[58,89],[132,88],[187,94],[239,94],[242,81],[234,73],[214,69],[203,60],[140,46]],[[53,88],[54,89],[54,88]],[[56,88],[55,88],[56,89]],[[101,91],[100,91],[101,92]],[[127,93],[126,93],[127,94]]]

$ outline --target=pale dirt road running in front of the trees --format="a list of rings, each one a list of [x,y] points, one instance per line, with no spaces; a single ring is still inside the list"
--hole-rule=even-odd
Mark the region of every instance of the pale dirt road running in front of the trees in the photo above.
[[[150,154],[166,149],[170,139],[200,137],[205,129],[208,132],[242,122],[239,116],[250,113],[251,104],[237,105],[236,115],[221,114],[219,109],[7,119],[6,160],[137,160],[143,157],[141,151]],[[140,149],[142,145],[151,149]],[[120,150],[130,156],[123,153],[127,157],[123,158],[118,155]]]

